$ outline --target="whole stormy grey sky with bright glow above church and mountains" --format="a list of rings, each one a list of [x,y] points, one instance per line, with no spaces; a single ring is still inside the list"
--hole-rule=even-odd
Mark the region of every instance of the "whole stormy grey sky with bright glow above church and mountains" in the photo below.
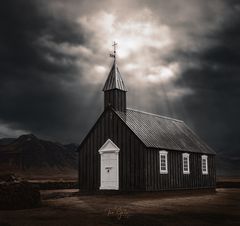
[[[0,137],[79,143],[116,41],[128,107],[182,119],[240,158],[239,1],[8,0],[0,15]]]

